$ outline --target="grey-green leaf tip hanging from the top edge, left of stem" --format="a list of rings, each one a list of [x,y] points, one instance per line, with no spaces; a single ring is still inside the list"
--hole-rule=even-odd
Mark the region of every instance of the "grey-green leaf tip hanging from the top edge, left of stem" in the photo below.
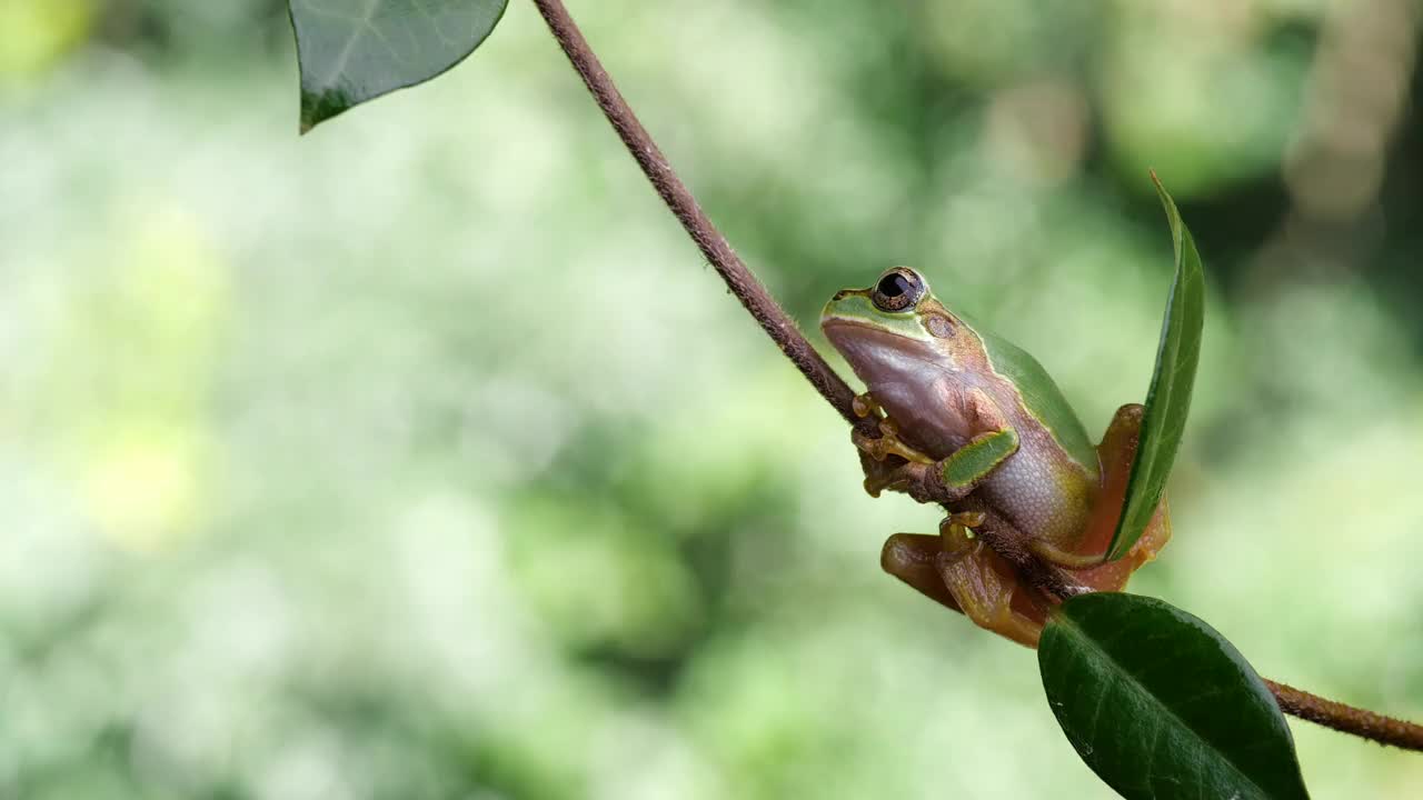
[[[474,53],[508,0],[290,0],[302,132]]]

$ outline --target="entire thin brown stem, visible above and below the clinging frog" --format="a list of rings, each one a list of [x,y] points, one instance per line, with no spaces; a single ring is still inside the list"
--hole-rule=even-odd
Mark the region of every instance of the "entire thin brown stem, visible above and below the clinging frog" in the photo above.
[[[810,346],[810,342],[795,327],[791,317],[787,316],[780,303],[761,286],[756,275],[751,273],[746,263],[741,262],[741,258],[736,255],[736,251],[731,249],[726,236],[716,229],[712,219],[697,205],[696,198],[692,196],[687,186],[677,178],[672,165],[667,164],[667,158],[662,155],[662,149],[652,141],[652,137],[642,127],[642,122],[638,121],[632,108],[628,107],[628,101],[623,100],[618,87],[613,85],[612,78],[608,77],[608,73],[599,64],[598,57],[588,47],[588,41],[568,14],[568,9],[564,7],[562,0],[534,0],[534,4],[538,6],[539,14],[544,16],[544,21],[548,23],[554,38],[564,48],[564,54],[568,56],[573,68],[582,75],[583,84],[588,85],[588,91],[598,101],[598,107],[603,110],[603,115],[608,117],[613,130],[618,131],[618,137],[628,145],[628,152],[638,161],[643,174],[652,181],[652,186],[657,189],[663,202],[667,204],[667,208],[682,222],[687,235],[702,249],[702,255],[712,262],[712,266],[726,280],[731,293],[741,300],[746,310],[756,317],[756,322],[761,325],[791,363],[801,370],[811,386],[820,391],[821,397],[840,411],[841,417],[851,424],[864,424],[864,420],[857,417],[851,407],[854,391],[830,369],[825,359]],[[1039,577],[1052,575],[1050,568],[1046,565],[1037,571],[1029,569],[1029,572],[1036,572]],[[1288,715],[1382,744],[1423,750],[1423,726],[1390,719],[1333,700],[1325,700],[1323,698],[1292,689],[1284,683],[1272,680],[1266,680],[1265,683],[1279,700],[1281,710]]]

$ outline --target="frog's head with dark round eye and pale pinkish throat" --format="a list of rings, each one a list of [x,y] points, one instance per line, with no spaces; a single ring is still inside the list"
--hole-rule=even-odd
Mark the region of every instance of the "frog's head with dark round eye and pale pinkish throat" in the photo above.
[[[835,292],[820,327],[871,391],[963,369],[972,337],[908,266],[887,269],[868,289]]]

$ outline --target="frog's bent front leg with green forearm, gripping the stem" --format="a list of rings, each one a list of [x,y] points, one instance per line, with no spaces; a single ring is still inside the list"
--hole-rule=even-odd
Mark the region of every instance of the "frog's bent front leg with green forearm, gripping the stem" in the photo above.
[[[868,397],[868,396],[861,396]],[[872,400],[857,399],[855,411],[878,409]],[[861,451],[875,461],[887,456],[905,460],[899,467],[867,470],[865,491],[879,497],[884,490],[904,491],[919,502],[958,502],[969,495],[979,483],[999,467],[1009,456],[1017,453],[1017,431],[1007,423],[998,406],[980,390],[972,390],[965,399],[965,409],[975,427],[982,433],[973,436],[946,458],[935,461],[919,450],[905,444],[894,420],[881,420],[879,437],[874,438],[855,430],[851,438]],[[867,410],[867,413],[869,413]]]

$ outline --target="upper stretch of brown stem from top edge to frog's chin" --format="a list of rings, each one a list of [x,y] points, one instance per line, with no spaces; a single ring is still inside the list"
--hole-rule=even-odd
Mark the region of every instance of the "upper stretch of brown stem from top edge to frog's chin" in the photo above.
[[[643,174],[652,181],[652,186],[657,189],[667,208],[672,209],[672,214],[677,216],[677,221],[687,231],[687,235],[702,249],[702,255],[712,262],[712,266],[726,280],[731,293],[741,300],[746,310],[751,312],[756,322],[776,340],[776,344],[785,353],[785,357],[801,370],[811,386],[820,391],[821,397],[834,406],[841,417],[855,424],[858,417],[855,417],[850,407],[855,393],[835,374],[835,370],[830,369],[825,359],[810,346],[810,342],[795,327],[795,322],[771,298],[766,286],[761,286],[756,275],[751,273],[746,263],[741,262],[741,258],[736,255],[736,251],[731,249],[726,236],[716,229],[712,219],[697,205],[697,199],[692,196],[687,186],[677,178],[672,165],[667,164],[667,158],[662,155],[662,149],[647,135],[642,122],[638,121],[638,115],[628,107],[628,101],[623,100],[622,93],[618,91],[612,78],[603,71],[603,65],[598,63],[598,57],[588,47],[588,41],[583,38],[582,31],[578,30],[573,19],[568,16],[568,9],[564,7],[564,3],[561,0],[534,0],[534,4],[544,14],[544,21],[554,31],[554,38],[564,48],[568,60],[573,63],[573,68],[582,75],[583,84],[593,94],[598,107],[603,110],[603,115],[612,122],[613,130],[618,131],[618,137],[628,145],[628,152],[638,161]]]

